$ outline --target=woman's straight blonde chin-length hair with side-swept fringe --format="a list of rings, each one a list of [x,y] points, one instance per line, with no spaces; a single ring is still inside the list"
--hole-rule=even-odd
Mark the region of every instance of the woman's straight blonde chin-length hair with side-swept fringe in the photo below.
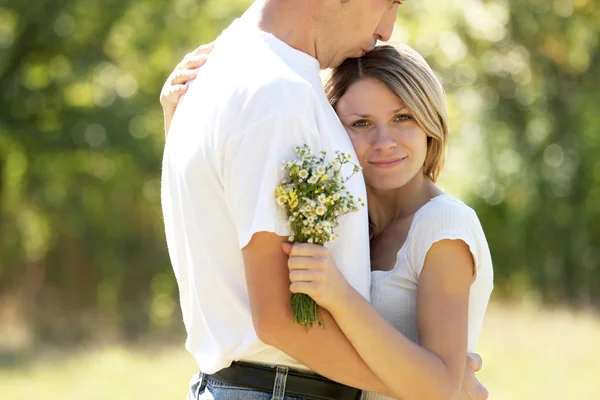
[[[332,70],[325,93],[336,109],[350,86],[373,78],[385,84],[410,109],[427,134],[423,169],[435,182],[444,166],[449,131],[444,88],[427,62],[406,45],[377,46],[361,58],[349,58]]]

